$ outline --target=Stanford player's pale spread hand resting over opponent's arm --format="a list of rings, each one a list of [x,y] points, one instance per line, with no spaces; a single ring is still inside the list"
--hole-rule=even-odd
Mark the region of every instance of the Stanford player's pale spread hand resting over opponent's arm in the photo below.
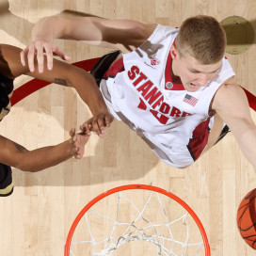
[[[36,56],[39,72],[43,72],[44,53],[46,54],[47,68],[49,71],[53,69],[54,56],[59,56],[63,60],[71,60],[71,57],[66,56],[63,52],[61,52],[52,41],[35,40],[26,46],[26,48],[24,48],[24,50],[21,52],[21,62],[23,66],[25,66],[27,61],[30,72],[34,72],[34,61]]]

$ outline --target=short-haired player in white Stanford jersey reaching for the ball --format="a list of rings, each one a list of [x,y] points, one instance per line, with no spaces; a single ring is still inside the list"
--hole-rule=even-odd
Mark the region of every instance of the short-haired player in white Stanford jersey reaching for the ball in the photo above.
[[[27,61],[33,72],[36,55],[42,72],[43,52],[49,70],[53,55],[68,59],[55,39],[120,50],[104,56],[92,73],[112,115],[168,165],[189,166],[230,128],[256,170],[256,126],[224,56],[225,32],[213,17],[189,18],[180,29],[130,20],[48,17],[34,26],[22,63]],[[81,129],[93,131],[94,124],[88,120]]]

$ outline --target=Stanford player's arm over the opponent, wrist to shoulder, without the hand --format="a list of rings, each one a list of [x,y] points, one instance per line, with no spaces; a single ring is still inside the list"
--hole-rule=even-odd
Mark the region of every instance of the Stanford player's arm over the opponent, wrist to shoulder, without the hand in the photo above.
[[[142,24],[132,20],[51,16],[35,24],[32,40],[83,40],[89,45],[130,49],[130,46],[138,47],[147,40],[154,29],[155,24]]]

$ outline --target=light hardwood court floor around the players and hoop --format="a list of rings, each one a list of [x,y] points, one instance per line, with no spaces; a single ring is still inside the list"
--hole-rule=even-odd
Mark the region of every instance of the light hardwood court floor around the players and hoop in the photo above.
[[[237,0],[0,0],[0,38],[24,48],[40,18],[77,10],[104,18],[180,25],[196,14],[218,21],[232,15],[256,21],[255,1]],[[107,49],[59,40],[72,62],[102,56]],[[256,46],[230,56],[239,84],[256,94]],[[29,78],[21,77],[15,87]],[[251,111],[253,120],[256,115]],[[3,136],[29,150],[53,145],[90,116],[72,88],[42,88],[12,107],[1,122]],[[252,256],[236,229],[240,200],[256,186],[253,168],[232,134],[206,152],[190,168],[161,163],[147,145],[121,122],[114,121],[104,139],[91,136],[81,161],[71,159],[39,173],[13,169],[11,197],[0,201],[0,254],[3,256],[63,255],[66,236],[78,212],[100,193],[122,184],[152,184],[185,200],[205,227],[213,256]],[[109,205],[111,207],[111,205]],[[147,252],[148,253],[148,252]],[[156,254],[152,254],[156,255]]]

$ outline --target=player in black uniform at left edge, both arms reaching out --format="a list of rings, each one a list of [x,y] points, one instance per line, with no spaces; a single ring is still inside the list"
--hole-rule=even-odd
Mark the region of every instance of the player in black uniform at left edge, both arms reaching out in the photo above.
[[[54,62],[53,71],[31,73],[28,66],[23,66],[20,61],[21,51],[22,49],[12,45],[0,44],[0,121],[11,112],[9,99],[13,92],[13,80],[26,74],[51,83],[75,88],[81,99],[88,104],[93,114],[92,120],[99,123],[104,122],[106,126],[109,125],[108,122],[113,117],[109,114],[91,74],[57,60]],[[17,133],[19,132],[17,131]],[[71,138],[65,142],[31,151],[5,136],[0,136],[0,197],[7,197],[13,191],[11,167],[35,172],[55,166],[72,156],[76,159],[82,158],[89,136],[75,133],[75,129],[71,130],[70,136]],[[102,134],[100,133],[99,136]]]

